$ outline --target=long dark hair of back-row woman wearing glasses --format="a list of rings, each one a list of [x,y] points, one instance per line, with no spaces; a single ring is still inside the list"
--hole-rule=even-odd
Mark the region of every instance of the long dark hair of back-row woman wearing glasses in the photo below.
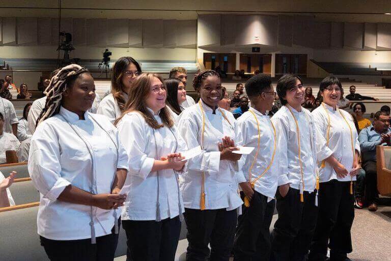
[[[113,66],[113,73],[111,73],[111,93],[113,94],[114,99],[118,102],[118,107],[121,112],[124,112],[126,109],[126,98],[122,77],[129,64],[134,64],[137,71],[141,73],[140,65],[131,57],[121,57],[118,59]]]

